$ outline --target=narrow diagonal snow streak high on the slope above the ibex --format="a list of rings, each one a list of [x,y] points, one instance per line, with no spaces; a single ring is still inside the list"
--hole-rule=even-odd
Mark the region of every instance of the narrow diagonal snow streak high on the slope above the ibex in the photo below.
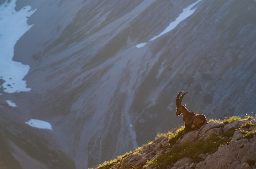
[[[149,40],[150,41],[153,41],[157,38],[159,38],[160,36],[166,34],[167,32],[170,32],[171,30],[173,30],[177,25],[179,25],[180,22],[182,22],[183,20],[185,20],[187,17],[191,16],[196,8],[192,9],[196,4],[198,4],[200,1],[202,0],[198,0],[196,1],[195,3],[189,5],[187,8],[183,9],[183,12],[179,14],[179,16],[175,19],[175,21],[171,22],[167,27],[166,29],[164,29],[159,35],[157,36],[154,36],[153,38],[151,38]],[[140,43],[140,44],[137,44],[136,47],[137,48],[141,48],[143,46],[145,46],[147,43]]]

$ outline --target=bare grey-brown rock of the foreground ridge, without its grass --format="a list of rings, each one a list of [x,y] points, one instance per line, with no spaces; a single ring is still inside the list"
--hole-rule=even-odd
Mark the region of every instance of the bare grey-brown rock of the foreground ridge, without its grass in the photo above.
[[[256,134],[252,138],[243,138],[244,134],[240,133],[242,130],[240,126],[246,121],[255,122],[256,118],[251,120],[235,121],[225,125],[223,122],[209,122],[202,126],[198,130],[189,131],[184,134],[182,138],[179,138],[176,143],[170,144],[168,138],[159,137],[153,141],[151,144],[147,144],[139,151],[138,154],[127,156],[122,161],[122,168],[128,169],[138,166],[143,166],[146,162],[157,155],[164,153],[167,154],[170,149],[174,146],[179,146],[185,143],[193,143],[196,140],[206,140],[210,136],[222,135],[224,131],[228,132],[231,129],[238,129],[232,136],[231,142],[228,145],[219,147],[216,152],[211,154],[201,153],[198,157],[202,161],[196,163],[191,159],[184,157],[179,159],[174,164],[169,164],[166,166],[167,169],[194,169],[194,168],[227,168],[227,169],[240,169],[247,168],[249,164],[246,162],[247,159],[256,160]],[[227,127],[226,127],[227,126]],[[225,129],[225,130],[224,130]],[[255,127],[249,127],[248,130]],[[251,130],[250,130],[251,131]],[[225,133],[225,132],[224,132]],[[230,139],[224,136],[223,139]],[[249,166],[252,167],[252,166]],[[153,166],[147,166],[147,169],[153,169]]]

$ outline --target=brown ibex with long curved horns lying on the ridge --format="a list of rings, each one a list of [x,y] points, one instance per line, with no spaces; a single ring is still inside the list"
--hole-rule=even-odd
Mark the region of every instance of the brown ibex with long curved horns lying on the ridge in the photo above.
[[[179,116],[182,114],[183,121],[185,122],[185,128],[186,129],[199,129],[201,126],[207,123],[207,119],[203,114],[195,114],[195,112],[190,112],[186,108],[186,104],[182,105],[181,101],[188,92],[183,93],[181,96],[180,94],[183,91],[179,92],[179,94],[176,97],[176,116]],[[180,96],[180,98],[179,98]]]

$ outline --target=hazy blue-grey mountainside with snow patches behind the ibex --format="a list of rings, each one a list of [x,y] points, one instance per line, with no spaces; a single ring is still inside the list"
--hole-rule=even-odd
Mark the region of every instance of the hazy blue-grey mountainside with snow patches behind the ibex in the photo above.
[[[256,110],[255,0],[0,5],[0,122],[24,152],[45,140],[47,168],[50,150],[88,168],[183,124],[179,91],[207,118]]]

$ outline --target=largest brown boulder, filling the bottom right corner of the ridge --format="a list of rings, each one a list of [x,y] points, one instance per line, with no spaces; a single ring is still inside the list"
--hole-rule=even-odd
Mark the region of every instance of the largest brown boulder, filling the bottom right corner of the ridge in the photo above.
[[[240,139],[219,147],[216,152],[206,157],[202,168],[240,168],[241,162],[256,157],[256,135],[251,139]]]

